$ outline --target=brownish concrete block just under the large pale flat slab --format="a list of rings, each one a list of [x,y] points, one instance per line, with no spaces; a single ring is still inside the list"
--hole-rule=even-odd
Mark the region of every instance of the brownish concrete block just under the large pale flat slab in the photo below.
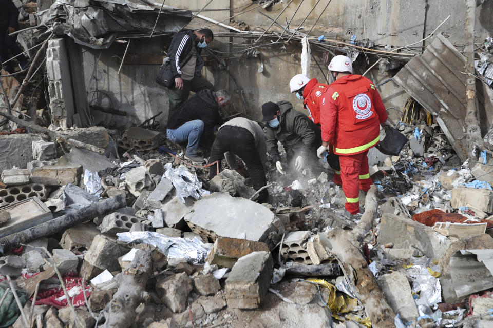
[[[240,257],[259,251],[269,252],[269,246],[260,241],[218,237],[207,257],[207,263],[231,269]]]

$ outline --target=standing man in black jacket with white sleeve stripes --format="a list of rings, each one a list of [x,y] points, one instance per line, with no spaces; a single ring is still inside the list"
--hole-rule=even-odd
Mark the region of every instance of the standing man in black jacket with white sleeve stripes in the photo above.
[[[200,74],[204,66],[200,52],[213,39],[214,34],[210,29],[183,29],[173,36],[168,57],[175,77],[175,87],[169,89],[169,117],[188,99],[190,91],[213,89],[213,85]]]

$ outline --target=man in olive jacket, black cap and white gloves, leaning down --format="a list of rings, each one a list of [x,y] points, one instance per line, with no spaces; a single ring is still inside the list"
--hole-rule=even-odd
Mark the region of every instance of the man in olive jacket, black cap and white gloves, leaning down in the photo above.
[[[263,104],[262,115],[262,121],[268,123],[267,151],[276,163],[277,171],[285,174],[277,148],[278,141],[286,151],[288,162],[296,156],[295,168],[300,171],[305,167],[305,161],[313,154],[313,149],[321,144],[320,129],[307,115],[295,110],[293,105],[285,100]]]

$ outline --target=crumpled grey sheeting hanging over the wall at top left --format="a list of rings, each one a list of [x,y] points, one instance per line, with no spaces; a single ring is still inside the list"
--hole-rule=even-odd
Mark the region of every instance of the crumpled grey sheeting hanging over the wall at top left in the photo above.
[[[143,0],[57,0],[37,14],[38,26],[52,25],[56,35],[68,35],[76,43],[107,49],[118,36],[178,32],[191,19],[187,10],[176,10]],[[159,20],[155,26],[156,19]]]

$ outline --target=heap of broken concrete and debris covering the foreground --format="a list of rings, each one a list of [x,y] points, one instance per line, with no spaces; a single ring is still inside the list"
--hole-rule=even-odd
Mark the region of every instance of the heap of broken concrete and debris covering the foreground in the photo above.
[[[421,137],[422,155],[410,142],[400,156],[380,154],[372,165],[377,188],[369,193],[380,206],[363,239],[367,268],[397,325],[453,326],[487,314],[493,173],[487,164],[456,166],[437,126],[400,130],[410,141]],[[178,145],[165,141],[174,156],[156,152],[160,142],[142,154],[123,150],[120,159],[75,147],[57,159],[55,145],[44,159],[31,157],[29,169],[2,171],[0,286],[15,291],[23,307],[14,327],[24,320],[57,327],[236,326],[253,316],[263,326],[273,326],[272,316],[286,318],[274,325],[283,327],[307,318],[319,326],[369,326],[366,300],[331,239],[337,229],[357,229],[363,217],[344,212],[344,192],[330,181],[327,163],[277,176],[272,204],[262,205],[245,198],[253,194],[249,179],[225,169],[208,183],[205,169],[178,159]],[[39,149],[39,141],[32,144]],[[278,173],[271,168],[268,175],[274,180]],[[51,231],[38,228],[43,236],[24,233],[81,217],[104,199],[118,209],[93,212],[63,230],[54,223]],[[122,303],[122,293],[131,302]],[[18,309],[13,296],[5,301]]]

